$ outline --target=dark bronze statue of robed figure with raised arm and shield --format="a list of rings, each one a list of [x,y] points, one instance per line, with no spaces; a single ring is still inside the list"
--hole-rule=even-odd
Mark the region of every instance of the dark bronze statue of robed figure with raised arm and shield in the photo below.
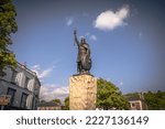
[[[91,58],[90,58],[90,49],[89,44],[86,43],[86,39],[81,37],[80,43],[76,35],[76,30],[74,31],[75,42],[78,46],[78,55],[77,55],[77,72],[79,74],[89,74],[91,68]]]

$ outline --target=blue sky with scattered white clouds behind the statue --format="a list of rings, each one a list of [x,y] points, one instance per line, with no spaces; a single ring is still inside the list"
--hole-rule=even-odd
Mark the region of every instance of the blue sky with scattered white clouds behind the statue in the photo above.
[[[91,74],[122,93],[165,90],[163,0],[14,0],[19,30],[11,50],[42,82],[45,99],[68,94],[76,74],[77,29],[90,45]]]

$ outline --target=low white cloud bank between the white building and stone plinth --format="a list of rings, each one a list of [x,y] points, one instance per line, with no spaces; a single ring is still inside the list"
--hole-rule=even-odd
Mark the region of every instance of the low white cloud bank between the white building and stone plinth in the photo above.
[[[68,96],[68,87],[57,87],[56,85],[44,85],[40,90],[40,100],[50,101],[52,99],[62,99],[64,100]]]

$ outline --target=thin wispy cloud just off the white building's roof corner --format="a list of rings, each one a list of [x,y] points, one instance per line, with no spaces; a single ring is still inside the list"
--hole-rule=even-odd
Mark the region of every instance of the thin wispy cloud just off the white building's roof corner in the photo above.
[[[34,66],[32,66],[32,71],[36,73],[36,75],[40,79],[43,79],[52,73],[54,67],[55,66],[48,67],[46,69],[41,69],[40,65],[34,65]]]

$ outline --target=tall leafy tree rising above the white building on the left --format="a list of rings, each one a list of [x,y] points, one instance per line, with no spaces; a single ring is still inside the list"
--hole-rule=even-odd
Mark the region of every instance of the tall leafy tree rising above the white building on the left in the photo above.
[[[4,75],[3,69],[7,65],[16,65],[14,54],[8,49],[12,44],[11,33],[18,30],[12,0],[0,0],[0,76]]]

